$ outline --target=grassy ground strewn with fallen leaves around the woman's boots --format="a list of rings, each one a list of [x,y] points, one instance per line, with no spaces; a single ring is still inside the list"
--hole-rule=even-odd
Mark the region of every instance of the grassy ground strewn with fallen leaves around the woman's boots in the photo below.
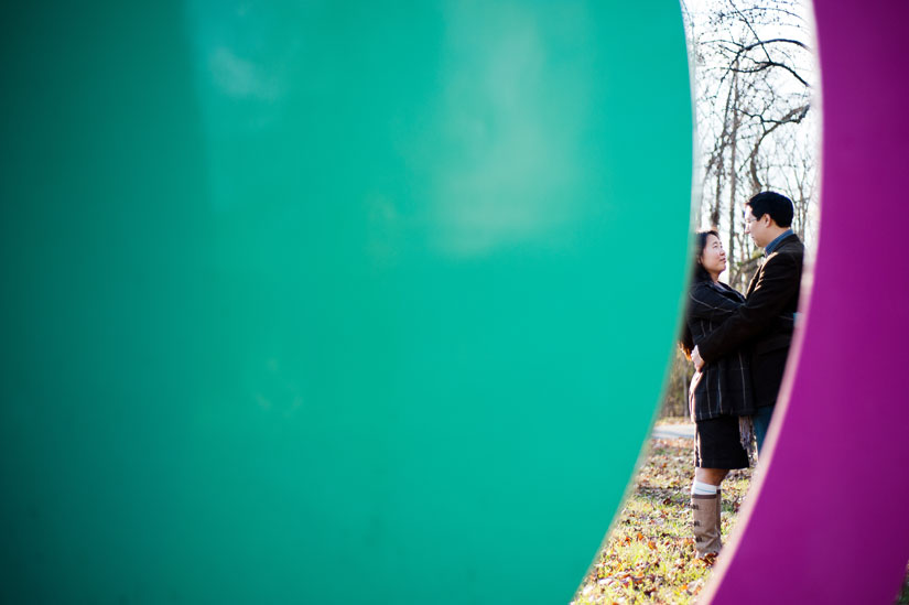
[[[653,440],[613,532],[578,588],[574,605],[692,603],[712,562],[695,558],[689,494],[692,440]],[[748,490],[750,469],[723,482],[723,537]]]

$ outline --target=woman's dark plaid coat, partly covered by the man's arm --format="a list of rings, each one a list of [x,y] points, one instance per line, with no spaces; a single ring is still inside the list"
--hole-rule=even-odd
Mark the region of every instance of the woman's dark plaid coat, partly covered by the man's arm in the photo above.
[[[693,283],[685,321],[694,344],[699,345],[744,303],[745,298],[725,283]],[[692,420],[755,413],[750,358],[747,348],[732,350],[694,374],[689,389]]]

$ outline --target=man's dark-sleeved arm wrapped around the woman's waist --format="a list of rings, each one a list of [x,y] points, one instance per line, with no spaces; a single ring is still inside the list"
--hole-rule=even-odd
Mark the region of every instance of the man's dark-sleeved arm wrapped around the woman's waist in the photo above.
[[[769,258],[745,304],[697,344],[700,356],[710,363],[760,334],[797,295],[800,281],[801,267],[793,256]]]

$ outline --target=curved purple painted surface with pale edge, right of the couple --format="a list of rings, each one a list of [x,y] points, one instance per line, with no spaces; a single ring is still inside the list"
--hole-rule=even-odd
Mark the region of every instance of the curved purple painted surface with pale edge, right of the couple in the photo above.
[[[909,560],[909,1],[814,10],[814,284],[770,456],[704,602],[890,604]]]

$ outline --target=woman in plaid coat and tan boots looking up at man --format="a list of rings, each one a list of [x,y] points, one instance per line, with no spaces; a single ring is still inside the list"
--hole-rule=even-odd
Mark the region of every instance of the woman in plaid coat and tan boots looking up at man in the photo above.
[[[714,231],[695,239],[694,276],[689,291],[682,349],[692,349],[745,302],[742,294],[719,281],[726,252]],[[736,350],[695,372],[689,407],[695,423],[695,468],[691,488],[694,540],[699,557],[722,548],[719,484],[733,468],[747,468],[751,446],[750,415],[755,413],[747,350]]]

